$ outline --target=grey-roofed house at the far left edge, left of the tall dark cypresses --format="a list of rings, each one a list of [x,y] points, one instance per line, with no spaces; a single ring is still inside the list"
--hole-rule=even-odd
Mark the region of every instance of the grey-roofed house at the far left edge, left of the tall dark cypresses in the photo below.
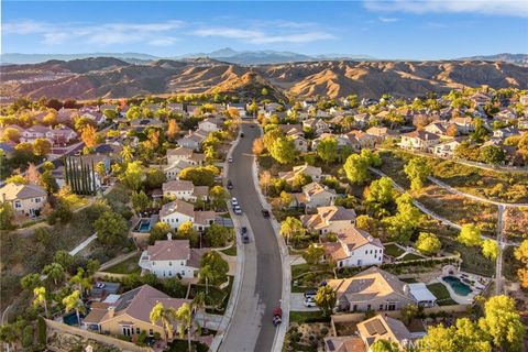
[[[0,188],[0,199],[8,201],[18,216],[37,217],[46,204],[47,193],[34,184],[9,183]]]

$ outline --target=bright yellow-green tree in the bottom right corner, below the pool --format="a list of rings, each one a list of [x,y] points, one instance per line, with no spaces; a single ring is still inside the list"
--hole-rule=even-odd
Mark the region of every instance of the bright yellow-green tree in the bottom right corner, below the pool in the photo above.
[[[503,351],[522,351],[526,327],[508,296],[494,296],[484,305],[485,317],[479,320],[482,330],[490,333],[493,344]]]

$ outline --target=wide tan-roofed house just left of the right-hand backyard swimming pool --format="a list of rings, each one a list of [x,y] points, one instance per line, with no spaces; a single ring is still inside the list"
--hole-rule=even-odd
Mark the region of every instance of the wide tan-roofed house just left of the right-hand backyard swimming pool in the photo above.
[[[415,305],[409,287],[397,276],[372,266],[352,277],[330,279],[342,311],[399,310]]]

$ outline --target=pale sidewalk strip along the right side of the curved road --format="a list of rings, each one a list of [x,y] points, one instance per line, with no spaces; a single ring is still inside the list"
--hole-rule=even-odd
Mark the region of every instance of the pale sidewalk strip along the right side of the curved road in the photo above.
[[[258,125],[261,135],[263,135],[264,131],[262,130],[262,127],[260,124],[257,125]],[[253,183],[256,189],[256,194],[258,195],[258,198],[261,200],[261,205],[264,209],[270,210],[270,215],[271,215],[270,221],[275,232],[275,237],[277,238],[278,249],[280,252],[280,264],[283,267],[283,294],[280,299],[282,301],[280,308],[283,309],[283,322],[280,323],[277,332],[275,333],[275,339],[273,340],[273,345],[272,345],[272,351],[280,352],[283,350],[284,339],[286,338],[286,331],[289,326],[289,306],[290,306],[290,298],[292,298],[292,285],[290,285],[292,266],[289,262],[288,248],[284,242],[284,238],[280,235],[280,224],[273,217],[273,212],[271,211],[272,207],[270,206],[266,198],[262,194],[261,186],[258,185],[258,166],[256,165],[256,157],[253,161],[252,173],[253,173]]]

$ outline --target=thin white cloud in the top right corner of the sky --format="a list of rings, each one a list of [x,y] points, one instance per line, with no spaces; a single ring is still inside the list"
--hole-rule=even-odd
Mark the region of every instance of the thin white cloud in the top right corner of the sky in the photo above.
[[[526,0],[363,0],[363,6],[375,12],[481,13],[528,16],[528,1]]]

